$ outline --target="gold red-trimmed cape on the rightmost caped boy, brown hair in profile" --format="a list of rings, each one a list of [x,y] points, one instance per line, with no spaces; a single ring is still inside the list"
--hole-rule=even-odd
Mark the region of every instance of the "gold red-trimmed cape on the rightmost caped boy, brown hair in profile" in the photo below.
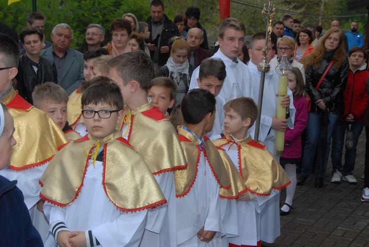
[[[251,136],[235,142],[228,135],[213,142],[218,147],[228,144],[237,146],[240,173],[250,192],[267,196],[273,188],[282,189],[291,183],[274,155],[263,145],[252,140]]]

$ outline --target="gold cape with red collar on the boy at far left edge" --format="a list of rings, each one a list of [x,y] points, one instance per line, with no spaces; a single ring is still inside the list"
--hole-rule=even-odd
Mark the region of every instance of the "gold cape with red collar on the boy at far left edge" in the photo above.
[[[12,90],[1,100],[14,119],[10,169],[21,171],[48,162],[68,142],[62,129],[46,113]]]

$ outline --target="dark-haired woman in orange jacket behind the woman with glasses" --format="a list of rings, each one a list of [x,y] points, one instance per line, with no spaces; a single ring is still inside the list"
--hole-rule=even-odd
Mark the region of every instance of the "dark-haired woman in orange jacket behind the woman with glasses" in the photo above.
[[[312,41],[313,38],[310,30],[303,29],[297,33],[297,45],[295,47],[295,52],[293,53],[293,57],[297,62],[314,51],[314,46],[311,45]]]

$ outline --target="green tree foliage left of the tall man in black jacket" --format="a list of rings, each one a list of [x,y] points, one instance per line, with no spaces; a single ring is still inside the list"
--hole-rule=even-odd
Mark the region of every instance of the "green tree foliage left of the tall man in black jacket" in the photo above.
[[[149,0],[37,0],[37,11],[46,16],[45,36],[59,23],[67,23],[73,30],[72,47],[80,47],[89,24],[100,24],[106,31],[105,40],[110,40],[110,24],[124,13],[133,13],[138,21],[145,21],[150,15]],[[27,25],[27,14],[32,12],[31,0],[20,0],[8,7],[7,0],[0,0],[3,10],[0,20],[18,33]],[[6,9],[4,9],[6,7]]]

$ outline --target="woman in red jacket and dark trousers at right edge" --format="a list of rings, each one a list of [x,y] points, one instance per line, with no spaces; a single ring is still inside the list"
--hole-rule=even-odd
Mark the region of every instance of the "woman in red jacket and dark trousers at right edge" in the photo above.
[[[357,184],[352,171],[355,166],[356,145],[364,128],[365,112],[368,103],[366,81],[369,71],[366,70],[367,64],[365,63],[365,58],[367,57],[368,53],[360,47],[353,47],[348,53],[350,73],[346,89],[343,92],[345,109],[332,135],[332,183],[339,184],[343,178],[343,181],[347,181],[349,184]],[[342,149],[346,130],[352,131],[353,145],[349,145],[346,142],[345,162],[342,168]]]

